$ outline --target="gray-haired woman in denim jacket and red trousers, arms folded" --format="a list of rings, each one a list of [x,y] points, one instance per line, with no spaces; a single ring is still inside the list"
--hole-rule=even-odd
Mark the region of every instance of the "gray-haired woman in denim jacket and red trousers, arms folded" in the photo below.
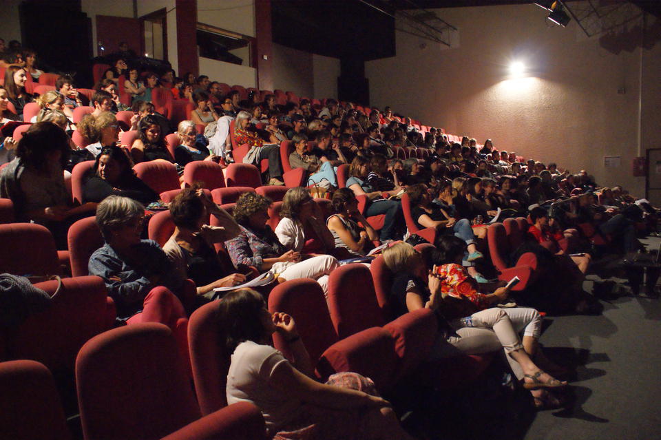
[[[96,208],[105,243],[90,257],[90,275],[103,278],[117,317],[128,324],[160,322],[175,328],[186,313],[172,292],[183,281],[153,240],[141,240],[145,207],[128,197],[109,196]]]

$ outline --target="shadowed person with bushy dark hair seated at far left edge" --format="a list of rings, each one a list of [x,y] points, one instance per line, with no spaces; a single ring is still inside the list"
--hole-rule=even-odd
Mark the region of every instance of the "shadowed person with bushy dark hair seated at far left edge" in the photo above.
[[[70,151],[63,129],[35,123],[17,145],[17,157],[0,172],[0,197],[12,199],[16,220],[48,227],[58,249],[67,249],[70,225],[96,209],[96,203],[72,205],[64,183]]]

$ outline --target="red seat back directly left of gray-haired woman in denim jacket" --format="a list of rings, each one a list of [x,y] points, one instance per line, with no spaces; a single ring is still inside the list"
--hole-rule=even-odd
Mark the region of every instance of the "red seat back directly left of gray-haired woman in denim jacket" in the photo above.
[[[87,263],[92,253],[103,246],[103,237],[96,225],[96,218],[81,218],[69,228],[67,235],[69,243],[69,260],[71,274],[74,277],[87,275]]]

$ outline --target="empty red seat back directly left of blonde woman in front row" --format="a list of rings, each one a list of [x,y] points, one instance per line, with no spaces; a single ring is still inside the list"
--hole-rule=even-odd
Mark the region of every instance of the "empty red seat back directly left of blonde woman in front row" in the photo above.
[[[330,273],[328,311],[341,339],[386,323],[377,302],[372,275],[363,264],[346,264]]]

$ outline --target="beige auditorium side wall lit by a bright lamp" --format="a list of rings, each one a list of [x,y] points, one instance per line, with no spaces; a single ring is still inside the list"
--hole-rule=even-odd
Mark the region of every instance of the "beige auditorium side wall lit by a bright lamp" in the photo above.
[[[397,32],[397,56],[366,63],[372,105],[644,193],[631,160],[639,155],[639,121],[640,155],[661,147],[661,43],[642,50],[641,70],[640,48],[607,52],[575,21],[553,25],[534,5],[434,12],[459,29],[457,47]],[[523,78],[508,76],[516,59],[528,66]],[[620,156],[620,165],[606,167],[605,156]]]

